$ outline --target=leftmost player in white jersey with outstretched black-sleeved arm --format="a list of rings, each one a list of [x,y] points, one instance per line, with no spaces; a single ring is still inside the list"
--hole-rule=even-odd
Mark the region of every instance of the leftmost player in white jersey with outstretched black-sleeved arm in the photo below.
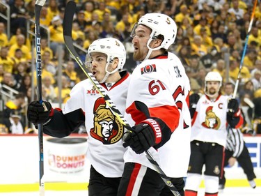
[[[125,60],[125,47],[115,38],[95,40],[88,48],[86,58],[86,66],[122,114],[125,112],[129,74],[119,70]],[[47,135],[68,136],[85,122],[87,158],[91,164],[88,195],[117,195],[124,165],[125,148],[121,140],[124,129],[93,83],[86,79],[76,84],[63,110],[52,109],[47,101],[44,104],[47,112],[38,101],[30,103],[27,116],[32,123],[44,123]]]

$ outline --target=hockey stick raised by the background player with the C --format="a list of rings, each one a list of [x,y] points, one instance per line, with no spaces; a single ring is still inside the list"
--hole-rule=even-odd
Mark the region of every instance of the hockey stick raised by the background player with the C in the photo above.
[[[240,65],[239,65],[239,72],[237,74],[237,81],[236,81],[236,84],[235,84],[233,98],[235,98],[237,96],[237,89],[238,89],[238,86],[239,86],[240,74],[241,74],[241,70],[242,70],[242,67],[243,67],[244,57],[246,55],[246,48],[247,48],[247,43],[248,43],[248,37],[250,35],[250,31],[251,31],[251,28],[252,28],[253,19],[254,19],[254,16],[255,16],[255,7],[257,6],[257,4],[258,4],[258,0],[255,0],[255,4],[254,4],[253,10],[252,10],[251,20],[250,20],[248,31],[247,31],[247,34],[246,34],[244,50],[243,50],[241,61],[240,61]]]

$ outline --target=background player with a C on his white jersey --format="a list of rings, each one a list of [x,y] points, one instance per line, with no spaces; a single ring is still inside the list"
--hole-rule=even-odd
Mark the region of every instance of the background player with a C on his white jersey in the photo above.
[[[227,123],[231,128],[242,126],[243,118],[236,99],[221,94],[222,77],[209,72],[205,77],[205,94],[191,95],[191,156],[185,186],[186,196],[196,196],[205,165],[205,196],[219,193],[219,176],[223,172],[223,156]]]

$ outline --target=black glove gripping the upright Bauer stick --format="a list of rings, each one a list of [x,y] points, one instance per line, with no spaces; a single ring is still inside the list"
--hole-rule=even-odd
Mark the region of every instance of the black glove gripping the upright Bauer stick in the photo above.
[[[42,101],[42,104],[38,100],[31,102],[27,109],[27,119],[35,124],[46,123],[53,115],[51,103]]]

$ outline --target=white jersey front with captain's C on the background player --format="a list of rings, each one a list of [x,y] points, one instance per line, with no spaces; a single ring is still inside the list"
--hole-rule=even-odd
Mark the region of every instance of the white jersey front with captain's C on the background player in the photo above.
[[[226,146],[228,98],[221,95],[212,101],[203,95],[198,100],[192,121],[191,141],[213,142]]]

